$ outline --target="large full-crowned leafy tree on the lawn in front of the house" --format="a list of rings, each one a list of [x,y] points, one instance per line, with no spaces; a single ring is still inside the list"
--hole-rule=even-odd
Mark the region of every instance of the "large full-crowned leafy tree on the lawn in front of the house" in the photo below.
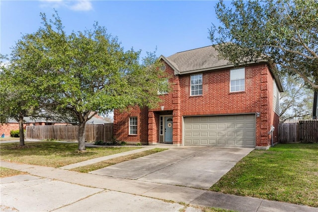
[[[43,83],[43,92],[57,110],[70,111],[79,123],[79,151],[85,150],[84,128],[95,114],[107,114],[129,106],[154,107],[164,72],[153,53],[140,64],[140,51],[124,51],[116,37],[97,23],[93,29],[67,35],[58,14],[29,35]]]

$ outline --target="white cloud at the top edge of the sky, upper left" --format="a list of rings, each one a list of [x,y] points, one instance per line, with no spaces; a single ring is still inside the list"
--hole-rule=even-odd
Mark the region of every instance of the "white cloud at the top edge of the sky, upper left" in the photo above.
[[[89,11],[93,9],[90,0],[40,0],[41,7],[66,7],[74,11]]]

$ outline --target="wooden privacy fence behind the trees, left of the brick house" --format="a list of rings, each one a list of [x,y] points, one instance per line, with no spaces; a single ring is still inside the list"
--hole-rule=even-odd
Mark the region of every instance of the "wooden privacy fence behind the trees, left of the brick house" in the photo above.
[[[45,125],[26,127],[26,139],[78,141],[77,125]],[[113,137],[113,123],[86,124],[85,141],[109,142]]]

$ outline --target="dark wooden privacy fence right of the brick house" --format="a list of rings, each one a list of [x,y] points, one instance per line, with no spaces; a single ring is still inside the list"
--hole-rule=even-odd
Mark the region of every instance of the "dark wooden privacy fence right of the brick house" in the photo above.
[[[278,141],[281,143],[317,143],[318,120],[279,124]]]

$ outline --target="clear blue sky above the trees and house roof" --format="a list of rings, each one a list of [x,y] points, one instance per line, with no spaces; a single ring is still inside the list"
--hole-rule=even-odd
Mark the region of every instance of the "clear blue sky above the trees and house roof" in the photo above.
[[[41,26],[40,12],[52,17],[54,8],[68,33],[91,29],[94,21],[117,36],[125,50],[133,47],[157,56],[211,45],[209,28],[219,24],[218,1],[106,1],[106,0],[1,0],[0,53],[22,34]]]

